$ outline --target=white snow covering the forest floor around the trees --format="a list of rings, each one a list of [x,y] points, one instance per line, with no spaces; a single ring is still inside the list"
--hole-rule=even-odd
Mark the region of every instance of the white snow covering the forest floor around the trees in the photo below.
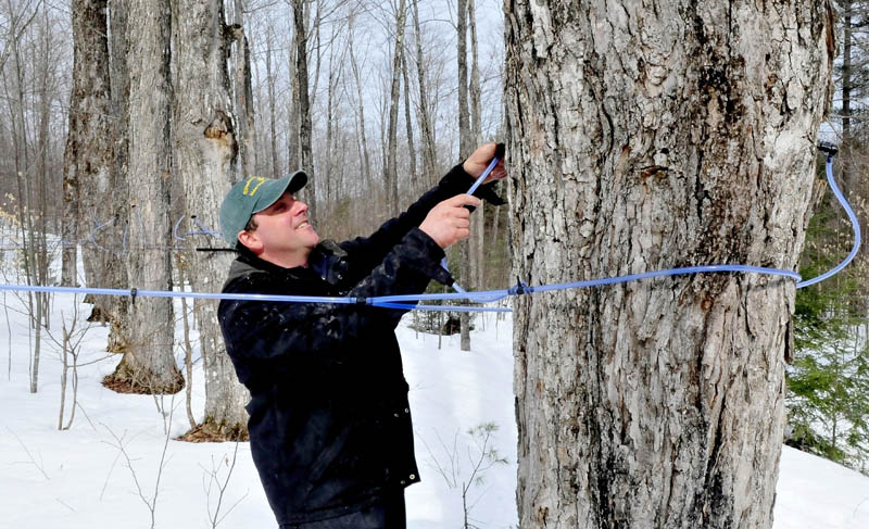
[[[154,497],[154,527],[212,527],[209,513],[213,516],[217,506],[218,487],[211,476],[216,474],[223,484],[236,444],[169,440],[158,484],[168,419],[152,396],[115,394],[100,386],[117,358],[106,358],[102,352],[106,329],[99,326],[91,327],[83,342],[79,364],[96,362],[79,368],[80,407],[72,428],[59,431],[56,348],[43,343],[39,391],[30,394],[27,322],[12,294],[7,294],[5,303],[9,326],[0,316],[0,528],[149,528],[147,502],[153,504]],[[55,298],[52,332],[60,333],[61,313],[68,325],[73,307],[71,297]],[[79,305],[80,315],[88,310]],[[437,337],[417,337],[406,326],[400,328],[423,474],[423,482],[407,489],[408,527],[462,527],[461,488],[468,482],[470,458],[480,455],[467,430],[486,423],[499,427],[488,446],[507,463],[491,466],[482,481],[470,487],[470,517],[481,528],[516,526],[511,333],[509,316],[496,322],[489,315],[477,323],[474,351],[463,353],[457,337],[444,338],[438,350]],[[193,410],[201,413],[199,368],[193,388]],[[68,403],[70,396],[67,414]],[[174,406],[171,437],[188,429],[182,394],[174,403],[163,399],[162,406],[167,412]],[[275,527],[247,444],[238,444],[231,468],[218,527]],[[785,448],[774,527],[869,527],[869,478]]]

